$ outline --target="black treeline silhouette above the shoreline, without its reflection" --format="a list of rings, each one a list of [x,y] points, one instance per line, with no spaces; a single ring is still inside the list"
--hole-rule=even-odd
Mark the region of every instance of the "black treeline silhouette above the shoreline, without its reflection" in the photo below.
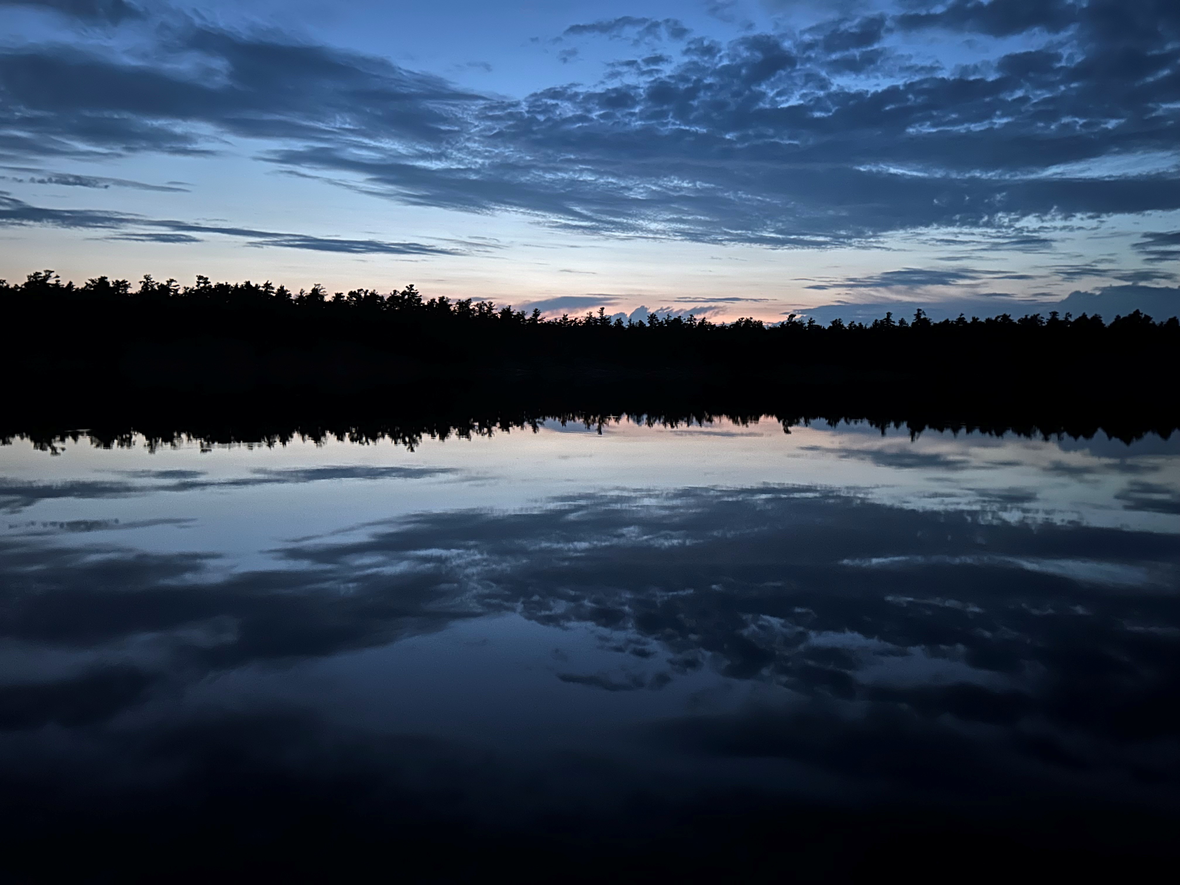
[[[137,341],[152,343],[216,336],[266,347],[323,342],[363,345],[425,363],[518,366],[598,365],[660,367],[846,365],[899,368],[917,362],[943,369],[1009,359],[1112,359],[1140,362],[1175,353],[1176,317],[1153,321],[1135,310],[1103,322],[1101,316],[1043,317],[1008,314],[981,320],[911,320],[891,314],[871,323],[833,320],[824,326],[792,315],[780,323],[741,319],[729,323],[695,316],[650,316],[624,322],[604,310],[545,320],[491,301],[424,297],[413,286],[382,295],[354,289],[329,295],[322,287],[294,293],[271,283],[195,286],[145,276],[137,287],[105,276],[83,286],[46,270],[24,283],[0,281],[11,335],[65,339],[99,349]],[[18,340],[19,343],[19,340]]]

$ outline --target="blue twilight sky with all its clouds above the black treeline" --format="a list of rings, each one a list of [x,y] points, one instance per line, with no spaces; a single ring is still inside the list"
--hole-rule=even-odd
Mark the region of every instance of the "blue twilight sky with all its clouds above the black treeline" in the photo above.
[[[0,0],[0,277],[1180,313],[1174,0]]]

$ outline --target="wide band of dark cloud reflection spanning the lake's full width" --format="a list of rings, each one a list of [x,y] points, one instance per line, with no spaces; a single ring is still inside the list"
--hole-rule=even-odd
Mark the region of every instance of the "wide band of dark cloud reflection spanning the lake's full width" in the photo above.
[[[1028,490],[1001,490],[996,500],[1027,503]],[[222,576],[210,568],[214,555],[9,538],[0,556],[8,595],[0,629],[21,642],[98,650],[120,636],[183,628],[196,631],[178,635],[196,643],[188,660],[223,667],[334,654],[454,618],[519,611],[540,624],[605,630],[622,650],[644,649],[618,671],[557,674],[610,690],[658,688],[668,668],[686,673],[712,661],[732,678],[807,696],[876,696],[894,684],[887,674],[899,655],[920,650],[936,661],[961,648],[950,660],[964,678],[976,670],[969,684],[990,673],[1009,683],[1005,691],[1036,695],[1055,690],[1054,680],[1084,678],[1060,668],[1097,635],[1121,649],[1107,668],[1141,654],[1136,643],[1167,641],[1166,632],[1128,631],[1123,621],[1171,623],[1172,596],[1159,589],[1175,584],[1178,565],[1166,535],[906,511],[774,486],[420,513],[275,552],[288,568]],[[1055,614],[1045,620],[1045,611]],[[1036,668],[1053,678],[1021,675]],[[1051,715],[1066,716],[1062,725],[1080,716],[1087,728],[1123,727],[1097,709],[1122,700],[1090,702],[1095,709]]]

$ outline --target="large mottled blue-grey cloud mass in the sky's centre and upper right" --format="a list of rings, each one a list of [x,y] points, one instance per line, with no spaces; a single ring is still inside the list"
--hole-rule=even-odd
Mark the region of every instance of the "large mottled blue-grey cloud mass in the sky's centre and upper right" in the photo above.
[[[415,203],[518,210],[607,234],[780,247],[1180,206],[1171,173],[1042,175],[1066,162],[1172,150],[1166,114],[1147,112],[1163,100],[1162,85],[1087,73],[1102,42],[1077,46],[1087,61],[1016,53],[979,72],[893,72],[877,87],[819,77],[837,32],[871,41],[880,27],[866,19],[794,44],[753,34],[708,58],[686,50],[670,67],[648,71],[636,59],[631,73],[616,68],[621,79],[610,85],[544,90],[504,105],[478,130],[486,140],[472,148],[492,166],[457,155],[422,173],[333,148],[274,158],[358,175]],[[1135,52],[1162,73],[1171,51],[1156,59],[1143,39]],[[1143,109],[1125,135],[1086,110],[1100,93],[1103,103]],[[1062,123],[1047,135],[1038,114],[1054,109]],[[1066,122],[1076,113],[1087,122]],[[1027,248],[1044,245],[1035,236]]]

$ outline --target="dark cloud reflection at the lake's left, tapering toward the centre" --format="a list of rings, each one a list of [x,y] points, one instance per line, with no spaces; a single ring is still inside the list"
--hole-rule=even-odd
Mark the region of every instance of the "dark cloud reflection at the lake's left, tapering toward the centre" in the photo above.
[[[399,579],[396,598],[373,592],[371,584],[342,601],[339,575],[275,570],[217,578],[209,565],[219,557],[211,553],[68,550],[22,539],[5,542],[0,558],[9,605],[2,620],[6,635],[88,649],[99,658],[109,642],[140,632],[171,635],[179,660],[149,656],[139,662],[148,670],[184,664],[208,671],[329,655],[470,616],[453,599],[448,608],[446,589],[428,571]],[[46,596],[39,597],[37,588],[46,589]],[[54,604],[70,611],[54,610]]]

